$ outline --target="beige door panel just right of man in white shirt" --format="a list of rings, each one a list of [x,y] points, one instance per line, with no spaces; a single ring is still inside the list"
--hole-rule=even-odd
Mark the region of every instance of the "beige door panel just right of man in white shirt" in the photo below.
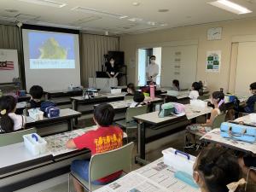
[[[182,89],[195,82],[197,45],[162,47],[161,86],[171,87],[172,80],[179,80]]]

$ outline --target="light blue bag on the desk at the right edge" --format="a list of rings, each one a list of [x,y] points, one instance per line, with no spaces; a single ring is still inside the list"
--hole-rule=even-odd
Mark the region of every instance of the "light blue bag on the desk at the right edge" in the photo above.
[[[220,126],[220,131],[221,137],[248,143],[254,143],[256,141],[256,128],[253,126],[224,122]]]

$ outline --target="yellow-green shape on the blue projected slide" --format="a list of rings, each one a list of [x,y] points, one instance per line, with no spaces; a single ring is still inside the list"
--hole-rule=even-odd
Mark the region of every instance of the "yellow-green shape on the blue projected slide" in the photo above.
[[[55,59],[55,60],[66,60],[67,59],[67,49],[60,46],[60,44],[55,40],[55,38],[49,38],[39,48],[41,55],[39,59]]]

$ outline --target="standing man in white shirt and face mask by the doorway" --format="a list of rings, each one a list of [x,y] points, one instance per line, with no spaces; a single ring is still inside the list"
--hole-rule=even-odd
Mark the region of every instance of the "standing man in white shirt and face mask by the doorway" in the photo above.
[[[156,76],[159,74],[159,66],[155,63],[155,56],[150,56],[150,64],[146,70],[147,84],[156,84]]]

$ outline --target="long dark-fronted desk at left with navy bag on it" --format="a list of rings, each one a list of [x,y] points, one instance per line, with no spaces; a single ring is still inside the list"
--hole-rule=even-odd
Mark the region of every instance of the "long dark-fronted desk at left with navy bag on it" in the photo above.
[[[55,118],[46,118],[35,120],[26,116],[26,128],[36,127],[40,136],[46,136],[63,131],[73,130],[73,119],[77,119],[81,113],[70,108],[60,109],[60,116]],[[61,125],[57,127],[56,125]],[[64,126],[63,126],[64,125]],[[59,129],[57,129],[59,128]]]

